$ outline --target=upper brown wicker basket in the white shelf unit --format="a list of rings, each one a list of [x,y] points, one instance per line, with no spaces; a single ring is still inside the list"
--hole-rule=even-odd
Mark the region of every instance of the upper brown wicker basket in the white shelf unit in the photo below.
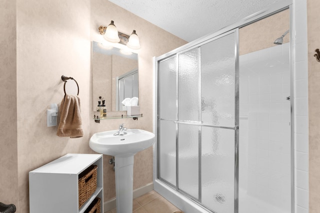
[[[79,174],[79,209],[96,190],[96,165],[89,166]]]

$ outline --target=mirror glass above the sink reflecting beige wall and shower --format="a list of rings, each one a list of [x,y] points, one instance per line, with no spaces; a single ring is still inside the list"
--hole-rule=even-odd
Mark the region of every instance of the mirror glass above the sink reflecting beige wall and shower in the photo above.
[[[124,98],[138,97],[138,55],[107,49],[92,41],[92,100],[96,111],[99,96],[107,111],[122,110]]]

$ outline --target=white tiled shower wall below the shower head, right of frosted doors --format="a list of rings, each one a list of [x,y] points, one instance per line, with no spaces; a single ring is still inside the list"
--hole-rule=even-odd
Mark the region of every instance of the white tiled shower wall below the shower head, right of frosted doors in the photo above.
[[[286,213],[290,210],[289,43],[241,55],[239,62],[240,212],[241,202],[255,197],[273,208],[266,212]]]

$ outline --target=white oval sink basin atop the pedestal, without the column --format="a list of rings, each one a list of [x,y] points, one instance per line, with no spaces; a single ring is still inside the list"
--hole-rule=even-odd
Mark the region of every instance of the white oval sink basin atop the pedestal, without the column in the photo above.
[[[98,132],[90,138],[90,148],[103,155],[133,156],[154,143],[154,134],[140,129],[128,129],[125,135],[116,135],[117,130]]]

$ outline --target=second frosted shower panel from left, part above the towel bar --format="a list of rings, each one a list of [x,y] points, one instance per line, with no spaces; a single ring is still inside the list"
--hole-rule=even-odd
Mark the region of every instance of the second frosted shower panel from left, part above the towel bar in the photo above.
[[[199,121],[198,48],[179,54],[178,120]]]

